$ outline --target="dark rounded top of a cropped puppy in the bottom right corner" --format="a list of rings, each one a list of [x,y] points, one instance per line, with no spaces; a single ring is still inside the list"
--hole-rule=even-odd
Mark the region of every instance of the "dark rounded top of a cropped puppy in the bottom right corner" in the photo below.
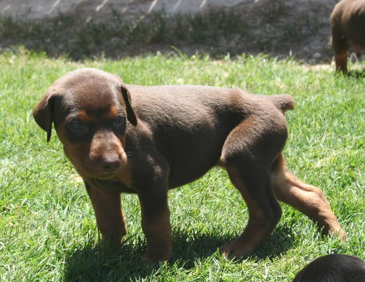
[[[330,254],[305,266],[293,282],[365,282],[365,262],[354,256]]]

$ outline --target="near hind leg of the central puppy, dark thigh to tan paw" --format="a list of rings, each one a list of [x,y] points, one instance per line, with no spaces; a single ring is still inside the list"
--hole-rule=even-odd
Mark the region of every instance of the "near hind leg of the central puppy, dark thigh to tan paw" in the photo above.
[[[271,233],[281,217],[270,182],[272,160],[285,143],[286,130],[271,133],[265,121],[247,118],[227,137],[222,162],[229,178],[245,200],[249,212],[244,231],[221,247],[224,255],[251,252]]]

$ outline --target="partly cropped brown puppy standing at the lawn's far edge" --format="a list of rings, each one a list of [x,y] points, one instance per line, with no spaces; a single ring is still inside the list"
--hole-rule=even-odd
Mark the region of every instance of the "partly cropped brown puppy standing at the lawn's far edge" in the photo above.
[[[330,21],[336,71],[347,72],[350,43],[355,45],[358,56],[365,49],[365,0],[340,1],[333,9]]]

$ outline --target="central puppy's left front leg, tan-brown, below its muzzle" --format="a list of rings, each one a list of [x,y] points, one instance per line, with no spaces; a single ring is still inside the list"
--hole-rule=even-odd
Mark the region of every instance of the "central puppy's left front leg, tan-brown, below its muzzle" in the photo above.
[[[126,221],[121,209],[120,193],[100,190],[85,183],[94,208],[96,223],[104,244],[118,247],[127,234]]]

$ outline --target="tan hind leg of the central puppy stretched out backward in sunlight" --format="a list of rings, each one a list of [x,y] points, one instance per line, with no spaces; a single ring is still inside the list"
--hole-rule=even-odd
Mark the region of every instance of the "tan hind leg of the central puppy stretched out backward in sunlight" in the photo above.
[[[331,232],[346,240],[346,233],[338,224],[322,190],[302,182],[290,172],[282,154],[273,164],[272,185],[278,200],[309,216],[325,234]]]

